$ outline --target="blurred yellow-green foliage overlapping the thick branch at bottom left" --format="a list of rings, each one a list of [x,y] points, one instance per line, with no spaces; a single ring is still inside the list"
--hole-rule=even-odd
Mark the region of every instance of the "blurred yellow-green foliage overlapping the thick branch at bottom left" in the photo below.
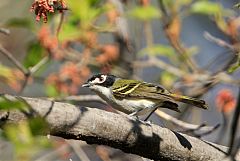
[[[0,110],[27,110],[27,104],[22,100],[10,100],[5,96],[0,97]],[[33,118],[22,121],[20,124],[8,124],[3,127],[3,136],[14,146],[16,160],[30,160],[39,151],[51,147],[51,142],[44,136],[47,124],[43,118]],[[31,149],[31,150],[30,150]]]

